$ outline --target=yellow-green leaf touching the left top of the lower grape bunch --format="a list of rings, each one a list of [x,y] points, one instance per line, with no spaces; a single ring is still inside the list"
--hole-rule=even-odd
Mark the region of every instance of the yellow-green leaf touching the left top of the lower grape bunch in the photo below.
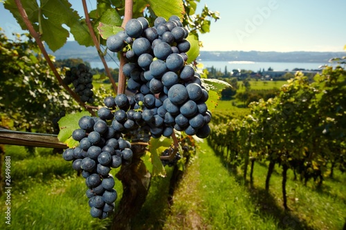
[[[73,140],[72,133],[75,131],[75,129],[80,128],[78,125],[78,121],[83,116],[90,116],[91,114],[89,112],[80,112],[80,113],[71,113],[64,117],[62,117],[59,122],[59,128],[60,132],[57,135],[57,139],[60,140],[60,142],[64,142],[69,146],[69,148],[75,147],[78,145],[78,142]]]

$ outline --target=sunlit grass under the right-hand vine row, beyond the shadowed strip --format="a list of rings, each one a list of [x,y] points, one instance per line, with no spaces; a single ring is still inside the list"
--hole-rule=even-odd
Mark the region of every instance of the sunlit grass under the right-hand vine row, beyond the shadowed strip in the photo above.
[[[266,164],[255,164],[254,186],[251,191],[263,197],[267,166]],[[270,195],[272,200],[260,202],[262,207],[268,202],[276,204],[277,210],[269,210],[274,213],[282,211],[282,169],[275,167],[275,172],[271,177]],[[313,181],[309,181],[307,186],[302,182],[293,180],[293,171],[288,171],[286,184],[289,213],[291,225],[297,229],[343,229],[346,218],[346,175],[340,171],[334,178],[325,178],[322,188],[318,189]],[[283,220],[282,220],[283,221]]]

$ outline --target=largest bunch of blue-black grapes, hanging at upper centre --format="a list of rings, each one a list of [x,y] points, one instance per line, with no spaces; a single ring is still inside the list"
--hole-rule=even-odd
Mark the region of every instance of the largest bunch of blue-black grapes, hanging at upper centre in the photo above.
[[[125,30],[107,39],[109,50],[127,58],[122,71],[144,120],[137,124],[149,126],[152,137],[169,137],[174,129],[200,138],[210,134],[208,91],[186,64],[187,37],[179,17],[172,16],[168,21],[157,17],[154,27],[144,17],[130,19]]]

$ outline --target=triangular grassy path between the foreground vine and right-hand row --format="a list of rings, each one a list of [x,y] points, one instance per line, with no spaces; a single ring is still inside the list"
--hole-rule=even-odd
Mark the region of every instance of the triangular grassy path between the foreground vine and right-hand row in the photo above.
[[[250,197],[205,142],[174,194],[164,229],[277,229]]]

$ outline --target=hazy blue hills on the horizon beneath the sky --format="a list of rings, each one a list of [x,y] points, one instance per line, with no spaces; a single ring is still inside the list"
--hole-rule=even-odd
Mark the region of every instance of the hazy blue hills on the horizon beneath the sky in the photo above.
[[[56,59],[81,58],[84,61],[100,61],[95,47],[80,46],[77,41],[67,41],[55,52],[48,53]],[[113,56],[113,53],[111,53]],[[345,52],[262,52],[262,51],[201,51],[201,61],[256,61],[256,62],[311,62],[325,63],[333,57],[343,57]]]

